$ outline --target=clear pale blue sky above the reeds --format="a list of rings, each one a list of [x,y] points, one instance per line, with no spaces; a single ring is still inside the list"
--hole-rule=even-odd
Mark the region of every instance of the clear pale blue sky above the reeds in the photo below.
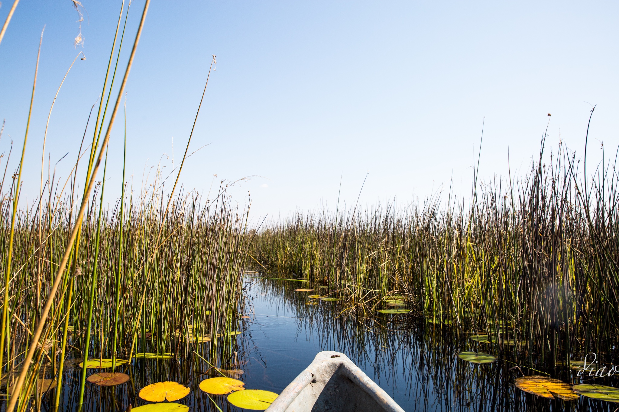
[[[29,201],[40,186],[50,105],[78,53],[86,59],[72,67],[51,114],[46,172],[48,159],[53,168],[68,153],[55,167],[57,177],[69,175],[102,91],[121,1],[82,4],[79,23],[70,0],[21,0],[0,44],[0,153],[13,141],[11,170],[45,26],[24,161]],[[143,6],[135,0],[129,9],[121,68]],[[598,161],[604,142],[614,156],[618,17],[610,1],[153,0],[126,88],[126,174],[139,190],[157,167],[167,174],[178,165],[212,55],[189,152],[207,146],[188,158],[181,182],[204,196],[221,180],[236,182],[232,200],[243,208],[251,195],[253,221],[333,209],[338,198],[406,205],[446,196],[450,185],[467,198],[482,124],[485,181],[526,173],[547,126],[549,150],[561,140],[582,156],[594,105],[588,154]],[[123,122],[120,113],[110,139],[110,200],[121,187]]]

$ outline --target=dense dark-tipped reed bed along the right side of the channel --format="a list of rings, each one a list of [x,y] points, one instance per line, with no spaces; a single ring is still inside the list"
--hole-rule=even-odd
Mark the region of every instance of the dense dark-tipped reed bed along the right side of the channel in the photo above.
[[[561,146],[520,179],[474,184],[402,210],[297,214],[259,232],[262,271],[339,290],[349,313],[405,296],[411,315],[485,332],[520,361],[607,361],[619,332],[616,159],[592,173]],[[546,158],[548,158],[546,160]]]

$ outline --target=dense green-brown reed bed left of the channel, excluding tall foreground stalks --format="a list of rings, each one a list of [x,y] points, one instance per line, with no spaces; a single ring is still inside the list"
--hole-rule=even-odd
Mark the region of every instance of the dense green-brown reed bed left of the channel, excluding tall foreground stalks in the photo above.
[[[98,185],[72,257],[76,266],[66,272],[29,374],[31,388],[44,374],[61,380],[66,361],[77,358],[75,366],[86,356],[131,361],[149,353],[192,359],[196,351],[215,364],[230,356],[247,237],[246,214],[229,203],[225,189],[212,200],[181,193],[164,215],[164,188],[141,195],[129,191],[124,202],[106,208],[103,185]],[[4,382],[8,377],[7,387],[22,368],[24,348],[74,224],[71,196],[61,198],[59,190],[50,185],[41,228],[36,204],[18,215],[2,375]],[[4,196],[0,238],[5,245],[10,208]],[[155,248],[160,228],[162,242]]]

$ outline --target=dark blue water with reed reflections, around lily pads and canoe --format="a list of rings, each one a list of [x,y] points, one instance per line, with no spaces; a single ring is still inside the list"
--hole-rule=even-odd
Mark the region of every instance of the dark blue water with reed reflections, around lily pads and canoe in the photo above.
[[[510,358],[497,363],[474,365],[457,358],[465,350],[491,351],[451,327],[438,327],[420,317],[376,313],[340,315],[342,302],[319,301],[306,305],[308,295],[295,292],[301,282],[245,279],[245,309],[250,317],[240,321],[236,353],[222,368],[243,369],[239,377],[246,389],[280,393],[322,350],[345,353],[407,412],[413,411],[615,411],[617,404],[580,397],[564,402],[529,395],[517,389],[514,379],[540,372],[518,369]],[[321,294],[337,291],[321,289]],[[71,356],[79,357],[79,353]],[[77,360],[67,360],[61,411],[77,411],[81,369]],[[129,403],[147,405],[137,393],[154,382],[172,380],[191,388],[178,400],[189,411],[241,412],[225,396],[207,397],[199,389],[209,366],[189,353],[176,359],[136,359],[120,368],[131,376],[127,384],[97,387],[87,384],[84,411],[125,411]],[[89,374],[93,370],[89,369]],[[212,372],[212,371],[211,371]],[[543,372],[543,371],[542,371]],[[547,371],[564,381],[565,371]],[[560,376],[560,373],[564,373]],[[569,373],[569,372],[568,372]],[[46,376],[50,377],[50,376]],[[572,375],[574,377],[574,375]],[[595,380],[613,384],[616,379]],[[53,411],[54,390],[46,393],[41,410]],[[2,405],[0,412],[4,410]]]

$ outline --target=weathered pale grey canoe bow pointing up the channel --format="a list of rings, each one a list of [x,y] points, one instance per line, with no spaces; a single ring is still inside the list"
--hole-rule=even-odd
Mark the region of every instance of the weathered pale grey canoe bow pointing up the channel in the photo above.
[[[326,350],[284,389],[267,412],[404,412],[344,353]]]

